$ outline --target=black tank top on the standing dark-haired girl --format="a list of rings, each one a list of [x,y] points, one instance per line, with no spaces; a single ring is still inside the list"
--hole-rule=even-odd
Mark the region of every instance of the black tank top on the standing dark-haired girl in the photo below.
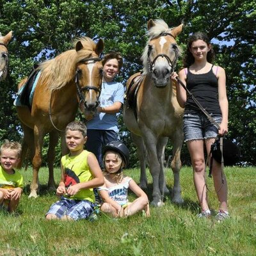
[[[188,90],[194,95],[194,97],[200,102],[200,104],[209,114],[221,114],[218,100],[218,79],[214,75],[212,68],[205,74],[193,74],[188,68],[186,84]],[[198,111],[201,111],[200,108],[198,108],[193,99],[191,99],[187,93],[184,113],[195,113]]]

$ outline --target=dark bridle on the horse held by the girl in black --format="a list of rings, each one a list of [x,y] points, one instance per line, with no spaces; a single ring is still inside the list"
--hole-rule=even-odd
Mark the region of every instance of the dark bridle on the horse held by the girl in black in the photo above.
[[[156,37],[159,37],[159,36],[172,36],[174,39],[175,37],[171,34],[171,33],[168,33],[168,32],[162,32],[161,34],[159,34],[158,36]],[[154,37],[154,38],[156,38]],[[151,38],[154,39],[154,38]],[[148,70],[149,70],[149,73],[152,74],[152,71],[153,71],[153,68],[154,68],[154,65],[156,63],[156,60],[161,57],[161,58],[166,58],[166,60],[168,61],[168,65],[171,67],[171,74],[172,72],[174,71],[175,67],[176,67],[176,64],[177,64],[177,60],[178,60],[178,56],[179,56],[179,51],[178,51],[178,48],[175,47],[174,49],[174,52],[175,52],[175,58],[174,60],[172,61],[170,59],[170,57],[164,53],[161,53],[161,54],[158,54],[153,61],[150,60],[150,51],[151,49],[148,49]]]

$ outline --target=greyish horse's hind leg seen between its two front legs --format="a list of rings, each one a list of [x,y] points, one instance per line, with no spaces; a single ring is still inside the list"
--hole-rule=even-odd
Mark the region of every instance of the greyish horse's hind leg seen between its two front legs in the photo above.
[[[157,143],[157,158],[160,163],[159,188],[160,188],[162,197],[164,196],[164,194],[170,193],[169,189],[166,187],[166,180],[165,180],[165,173],[164,173],[164,150],[167,143],[168,143],[167,137],[160,138]]]

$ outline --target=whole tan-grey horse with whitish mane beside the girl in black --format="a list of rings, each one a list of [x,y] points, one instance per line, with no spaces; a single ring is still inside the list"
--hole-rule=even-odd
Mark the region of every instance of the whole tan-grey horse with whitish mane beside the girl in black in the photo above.
[[[163,20],[148,21],[148,44],[145,47],[143,73],[134,74],[127,81],[127,100],[124,105],[124,122],[131,131],[138,147],[141,163],[141,188],[147,188],[145,152],[153,178],[151,204],[163,205],[164,149],[168,138],[173,143],[171,167],[174,175],[172,201],[182,203],[179,172],[180,150],[183,143],[182,116],[175,86],[170,75],[175,68],[180,49],[175,38],[182,31],[182,24],[168,28]]]

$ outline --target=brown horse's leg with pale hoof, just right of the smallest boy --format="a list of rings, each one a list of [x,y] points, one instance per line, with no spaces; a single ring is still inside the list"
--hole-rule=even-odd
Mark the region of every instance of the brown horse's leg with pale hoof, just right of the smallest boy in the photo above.
[[[32,182],[30,185],[30,194],[29,198],[31,197],[37,197],[37,191],[38,191],[38,172],[39,168],[42,164],[42,146],[44,142],[44,133],[43,131],[40,130],[39,127],[35,125],[34,127],[34,140],[35,140],[35,155],[32,160],[32,166],[33,166],[33,177],[32,177]]]

